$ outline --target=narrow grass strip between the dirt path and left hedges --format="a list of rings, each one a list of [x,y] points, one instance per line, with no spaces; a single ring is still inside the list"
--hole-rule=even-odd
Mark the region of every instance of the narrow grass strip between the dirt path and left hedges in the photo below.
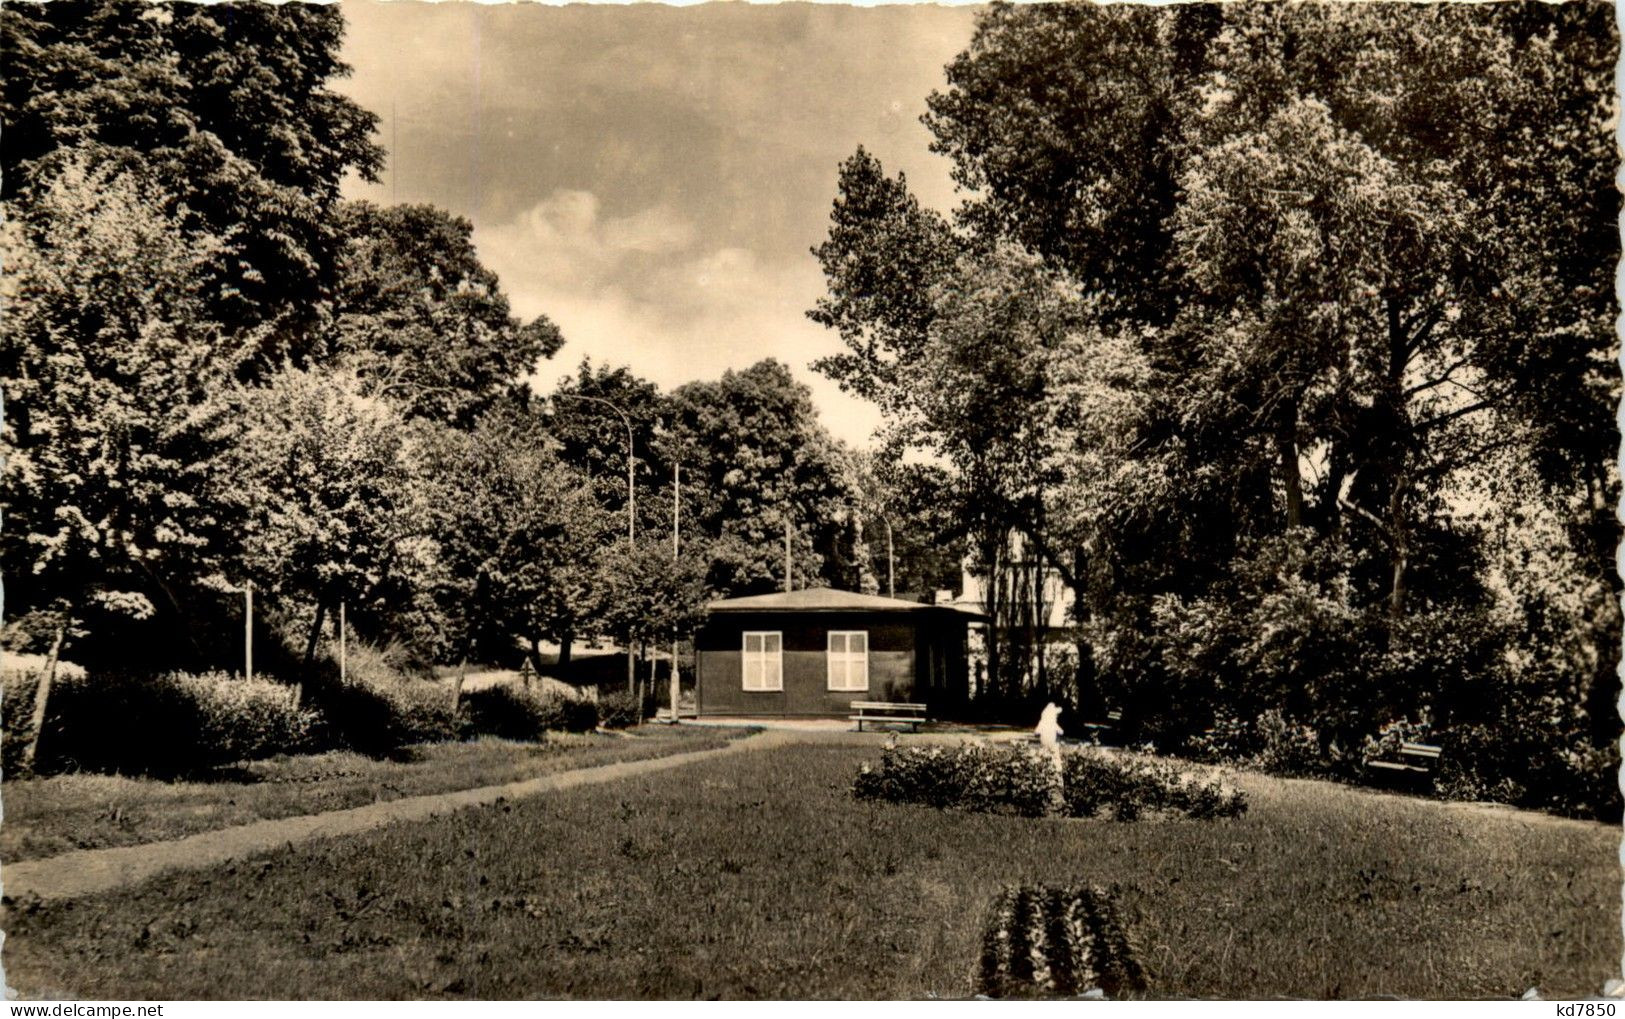
[[[549,733],[544,743],[481,738],[408,748],[400,761],[354,752],[283,756],[210,780],[55,775],[6,782],[0,858],[54,856],[179,839],[424,793],[500,785],[564,769],[722,746],[743,730],[644,726],[635,735]]]

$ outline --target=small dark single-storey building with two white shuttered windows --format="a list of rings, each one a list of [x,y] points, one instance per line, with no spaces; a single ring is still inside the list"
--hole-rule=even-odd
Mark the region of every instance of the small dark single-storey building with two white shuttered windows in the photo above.
[[[700,717],[847,717],[853,700],[951,715],[970,694],[957,608],[816,587],[707,606],[694,640]]]

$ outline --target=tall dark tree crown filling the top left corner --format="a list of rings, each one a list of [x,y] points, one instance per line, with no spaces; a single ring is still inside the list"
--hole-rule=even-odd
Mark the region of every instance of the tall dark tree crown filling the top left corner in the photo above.
[[[6,7],[3,197],[98,153],[141,167],[184,236],[218,245],[210,315],[262,328],[262,371],[302,358],[335,283],[340,184],[372,179],[377,119],[328,85],[336,8],[98,0]]]

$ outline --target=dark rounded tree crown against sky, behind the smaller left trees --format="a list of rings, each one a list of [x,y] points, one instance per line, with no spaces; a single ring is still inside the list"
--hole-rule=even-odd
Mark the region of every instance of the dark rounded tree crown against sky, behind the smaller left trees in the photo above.
[[[351,202],[340,232],[335,356],[411,414],[466,427],[564,343],[512,315],[460,216]]]

